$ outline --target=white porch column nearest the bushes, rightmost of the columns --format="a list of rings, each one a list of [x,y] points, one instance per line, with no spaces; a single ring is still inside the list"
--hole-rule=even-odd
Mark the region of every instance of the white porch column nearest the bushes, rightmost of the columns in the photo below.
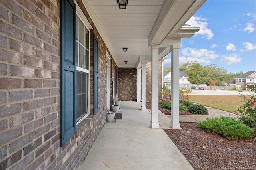
[[[173,129],[179,129],[180,128],[180,110],[179,110],[179,50],[180,45],[172,45],[171,46],[171,53],[172,53],[172,95],[171,95],[171,127]]]

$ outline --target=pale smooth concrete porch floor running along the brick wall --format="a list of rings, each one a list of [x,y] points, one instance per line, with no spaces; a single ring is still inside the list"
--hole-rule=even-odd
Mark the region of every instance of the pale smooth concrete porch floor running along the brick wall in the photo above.
[[[106,122],[81,170],[193,170],[164,130],[150,128],[151,115],[141,103],[122,101],[117,122]],[[170,119],[159,114],[162,127]]]

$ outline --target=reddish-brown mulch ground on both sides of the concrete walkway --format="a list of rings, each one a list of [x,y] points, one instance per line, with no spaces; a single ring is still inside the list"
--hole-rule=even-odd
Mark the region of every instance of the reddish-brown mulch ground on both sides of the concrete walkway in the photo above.
[[[146,103],[146,108],[151,109],[151,103]],[[159,110],[170,114],[169,109]],[[180,115],[188,114],[180,111]],[[180,122],[180,127],[164,131],[195,170],[256,170],[256,137],[228,140],[208,134],[196,123]]]

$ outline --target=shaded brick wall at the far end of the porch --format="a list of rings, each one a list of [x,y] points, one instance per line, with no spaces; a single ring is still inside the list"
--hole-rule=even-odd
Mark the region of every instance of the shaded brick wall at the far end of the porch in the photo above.
[[[137,99],[136,68],[118,68],[118,97],[122,101]]]

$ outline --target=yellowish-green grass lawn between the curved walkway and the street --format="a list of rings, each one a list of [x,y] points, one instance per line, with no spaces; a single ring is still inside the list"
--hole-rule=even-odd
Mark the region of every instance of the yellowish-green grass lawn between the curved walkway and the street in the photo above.
[[[242,106],[243,103],[240,102],[242,99],[239,95],[189,95],[189,101],[193,103],[236,113],[237,115],[240,115],[237,109]]]

